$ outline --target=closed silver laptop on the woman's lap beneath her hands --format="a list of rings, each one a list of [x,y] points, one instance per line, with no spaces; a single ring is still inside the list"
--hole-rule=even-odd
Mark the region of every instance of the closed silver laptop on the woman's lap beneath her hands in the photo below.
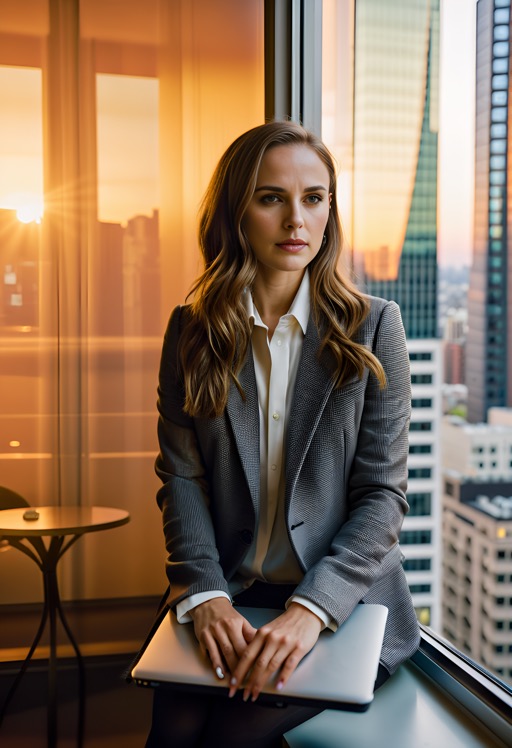
[[[255,628],[282,612],[237,610]],[[357,605],[336,633],[322,631],[282,691],[275,689],[276,681],[270,681],[258,700],[365,711],[373,699],[387,615],[383,605]],[[201,654],[192,624],[179,624],[170,611],[143,648],[131,677],[139,686],[166,685],[218,695],[228,692],[227,679],[219,680]]]

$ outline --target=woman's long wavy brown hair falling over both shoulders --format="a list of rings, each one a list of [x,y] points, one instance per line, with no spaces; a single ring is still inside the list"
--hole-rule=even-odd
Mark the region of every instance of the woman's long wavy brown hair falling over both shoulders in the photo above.
[[[330,350],[337,387],[368,368],[383,387],[379,360],[354,337],[368,314],[367,298],[337,271],[342,230],[336,203],[334,160],[313,133],[293,122],[269,122],[241,135],[221,157],[203,198],[199,244],[205,269],[192,287],[193,301],[180,337],[179,358],[185,389],[185,411],[209,418],[226,407],[231,382],[242,397],[238,373],[244,363],[250,325],[242,295],[258,270],[247,241],[243,217],[256,188],[263,156],[278,145],[307,145],[329,172],[331,210],[325,240],[309,263],[311,309],[321,345]]]

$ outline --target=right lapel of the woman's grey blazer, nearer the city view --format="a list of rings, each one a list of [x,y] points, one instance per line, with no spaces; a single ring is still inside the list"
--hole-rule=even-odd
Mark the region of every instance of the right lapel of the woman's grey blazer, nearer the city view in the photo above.
[[[332,367],[329,366],[330,354],[324,351],[319,358],[319,346],[320,335],[310,316],[288,421],[285,447],[287,504],[318,421],[334,386]]]

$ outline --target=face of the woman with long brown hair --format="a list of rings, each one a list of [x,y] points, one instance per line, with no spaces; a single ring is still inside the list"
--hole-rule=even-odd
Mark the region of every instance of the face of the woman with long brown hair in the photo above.
[[[301,278],[322,245],[330,202],[329,172],[313,148],[270,148],[242,221],[258,272]]]

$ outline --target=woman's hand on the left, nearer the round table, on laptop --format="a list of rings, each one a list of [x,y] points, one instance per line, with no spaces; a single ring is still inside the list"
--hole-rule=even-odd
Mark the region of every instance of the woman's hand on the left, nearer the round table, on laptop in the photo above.
[[[190,611],[196,638],[208,655],[217,677],[233,674],[256,629],[225,597],[215,597]]]

